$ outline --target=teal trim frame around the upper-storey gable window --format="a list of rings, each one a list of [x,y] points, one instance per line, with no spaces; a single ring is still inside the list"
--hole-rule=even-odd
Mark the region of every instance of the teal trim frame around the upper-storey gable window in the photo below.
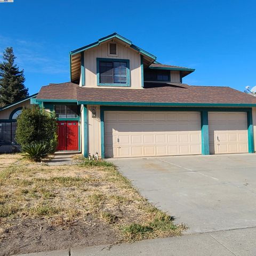
[[[126,62],[126,84],[107,84],[100,83],[100,61],[120,61]],[[97,85],[98,86],[120,86],[120,87],[130,87],[130,60],[124,59],[110,59],[110,58],[97,58]]]

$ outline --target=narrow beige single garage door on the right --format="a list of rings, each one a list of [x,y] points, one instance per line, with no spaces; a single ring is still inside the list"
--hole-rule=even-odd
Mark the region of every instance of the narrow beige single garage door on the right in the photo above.
[[[210,154],[248,152],[247,114],[209,112]]]

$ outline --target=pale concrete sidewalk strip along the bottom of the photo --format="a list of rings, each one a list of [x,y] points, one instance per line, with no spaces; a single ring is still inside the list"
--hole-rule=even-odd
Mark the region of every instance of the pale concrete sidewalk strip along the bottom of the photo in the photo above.
[[[255,241],[256,228],[247,228],[159,238],[133,244],[78,247],[22,256],[255,256]]]

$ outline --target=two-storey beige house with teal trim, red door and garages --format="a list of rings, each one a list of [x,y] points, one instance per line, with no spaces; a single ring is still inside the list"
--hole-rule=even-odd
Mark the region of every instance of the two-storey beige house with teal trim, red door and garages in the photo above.
[[[183,84],[194,71],[114,33],[71,51],[70,82],[43,86],[33,103],[55,110],[58,150],[84,156],[254,153],[256,97]]]

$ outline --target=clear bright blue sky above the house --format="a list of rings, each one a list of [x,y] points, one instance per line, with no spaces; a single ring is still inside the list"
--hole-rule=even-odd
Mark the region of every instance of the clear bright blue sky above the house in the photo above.
[[[191,85],[255,86],[256,3],[237,0],[14,0],[0,3],[0,53],[12,46],[29,93],[69,81],[69,51],[117,32],[195,68]]]

